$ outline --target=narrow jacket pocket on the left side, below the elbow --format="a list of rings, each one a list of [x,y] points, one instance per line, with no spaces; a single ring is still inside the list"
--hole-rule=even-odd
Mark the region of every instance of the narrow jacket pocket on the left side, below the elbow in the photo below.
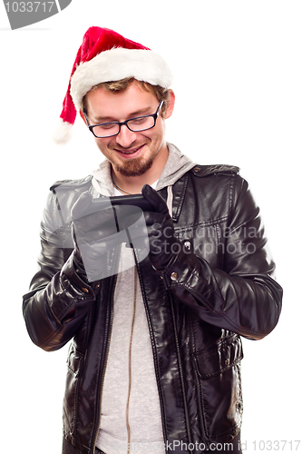
[[[63,400],[63,434],[70,441],[73,441],[75,436],[77,395],[82,366],[83,354],[76,350],[72,343],[67,357],[66,386]]]

